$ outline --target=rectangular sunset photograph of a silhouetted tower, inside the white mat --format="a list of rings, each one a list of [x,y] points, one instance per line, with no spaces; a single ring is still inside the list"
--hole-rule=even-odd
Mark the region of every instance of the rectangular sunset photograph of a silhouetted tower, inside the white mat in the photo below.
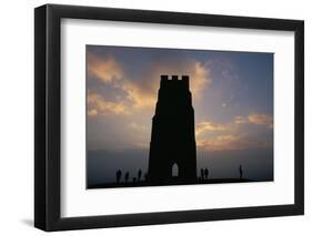
[[[85,45],[85,188],[274,181],[272,52]]]

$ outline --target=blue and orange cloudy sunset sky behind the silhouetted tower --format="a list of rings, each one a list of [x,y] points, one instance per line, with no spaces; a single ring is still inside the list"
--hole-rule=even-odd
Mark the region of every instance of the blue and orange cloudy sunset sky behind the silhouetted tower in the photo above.
[[[273,54],[87,45],[88,182],[147,171],[161,74],[190,75],[198,170],[273,177]]]

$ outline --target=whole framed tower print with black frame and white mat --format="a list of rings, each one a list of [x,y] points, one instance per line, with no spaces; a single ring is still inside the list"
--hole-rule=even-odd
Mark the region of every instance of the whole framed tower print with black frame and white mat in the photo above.
[[[34,226],[301,215],[304,23],[34,10]]]

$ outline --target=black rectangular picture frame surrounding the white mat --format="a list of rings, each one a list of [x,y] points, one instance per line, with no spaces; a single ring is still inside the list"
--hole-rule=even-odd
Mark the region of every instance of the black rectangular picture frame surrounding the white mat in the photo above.
[[[61,19],[293,31],[294,204],[103,216],[60,216]],[[304,22],[182,12],[46,4],[34,10],[34,226],[47,232],[304,214]]]

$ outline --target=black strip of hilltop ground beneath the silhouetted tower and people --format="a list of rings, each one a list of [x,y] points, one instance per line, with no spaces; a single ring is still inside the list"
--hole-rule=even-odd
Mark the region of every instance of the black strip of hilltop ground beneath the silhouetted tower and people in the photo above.
[[[89,185],[88,189],[113,188],[113,187],[170,186],[170,185],[190,185],[190,184],[225,184],[225,183],[246,183],[246,182],[254,182],[254,181],[248,178],[209,178],[209,179],[188,182],[188,183],[172,181],[165,184],[153,184],[147,181],[139,181],[139,182],[127,182],[127,183],[121,182],[121,183],[105,183],[105,184]]]

